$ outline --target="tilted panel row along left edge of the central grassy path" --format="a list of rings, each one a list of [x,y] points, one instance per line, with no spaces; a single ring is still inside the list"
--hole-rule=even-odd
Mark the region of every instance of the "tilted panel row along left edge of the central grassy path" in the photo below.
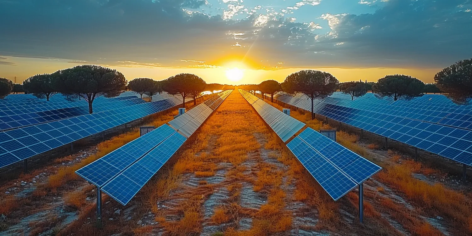
[[[219,93],[170,121],[172,127],[159,126],[76,173],[126,205],[230,93]]]

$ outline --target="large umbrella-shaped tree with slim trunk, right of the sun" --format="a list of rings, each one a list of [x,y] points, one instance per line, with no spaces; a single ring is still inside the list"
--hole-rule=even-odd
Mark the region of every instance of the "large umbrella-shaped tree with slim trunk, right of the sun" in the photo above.
[[[312,100],[312,119],[314,119],[313,101],[333,94],[338,83],[336,77],[327,72],[301,70],[287,76],[282,83],[282,89],[290,94],[304,93],[307,95]]]

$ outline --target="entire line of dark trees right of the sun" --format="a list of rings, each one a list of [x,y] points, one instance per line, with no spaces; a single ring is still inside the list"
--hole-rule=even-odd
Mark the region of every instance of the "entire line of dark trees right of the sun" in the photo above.
[[[388,97],[394,101],[410,100],[425,93],[445,93],[453,102],[462,105],[468,104],[472,99],[472,59],[458,61],[444,68],[434,76],[434,82],[424,84],[412,76],[396,74],[380,78],[377,83],[364,83],[362,80],[339,83],[339,80],[328,72],[301,70],[287,76],[283,83],[266,80],[261,84],[244,84],[238,87],[260,91],[262,96],[270,94],[272,102],[274,94],[279,91],[293,95],[303,93],[312,101],[312,118],[314,101],[324,99],[336,90],[349,94],[351,100],[365,95],[368,91],[372,91],[378,98]]]

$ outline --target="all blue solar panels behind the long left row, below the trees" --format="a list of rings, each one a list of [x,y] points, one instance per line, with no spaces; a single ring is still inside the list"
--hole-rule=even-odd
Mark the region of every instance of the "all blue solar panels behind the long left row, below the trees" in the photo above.
[[[60,97],[60,95],[56,96]],[[56,96],[52,98],[56,98]],[[0,111],[0,130],[31,126],[89,114],[88,103],[84,100],[74,102],[59,100],[59,102],[55,102],[52,101],[52,98],[51,101],[47,102],[40,99],[29,99],[29,102],[21,102],[22,100],[20,99],[17,103],[13,103],[13,99],[11,99],[12,101],[9,103],[11,107],[3,107],[4,110]],[[136,96],[110,99],[99,97],[93,102],[93,110],[95,112],[114,110],[144,102],[144,100]]]

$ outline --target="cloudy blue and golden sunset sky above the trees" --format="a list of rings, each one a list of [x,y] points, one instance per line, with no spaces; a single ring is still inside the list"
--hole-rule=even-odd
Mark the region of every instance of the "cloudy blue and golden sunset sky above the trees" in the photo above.
[[[0,77],[83,64],[129,80],[341,82],[406,74],[431,83],[472,58],[472,0],[0,0]],[[236,68],[236,69],[235,69]]]

